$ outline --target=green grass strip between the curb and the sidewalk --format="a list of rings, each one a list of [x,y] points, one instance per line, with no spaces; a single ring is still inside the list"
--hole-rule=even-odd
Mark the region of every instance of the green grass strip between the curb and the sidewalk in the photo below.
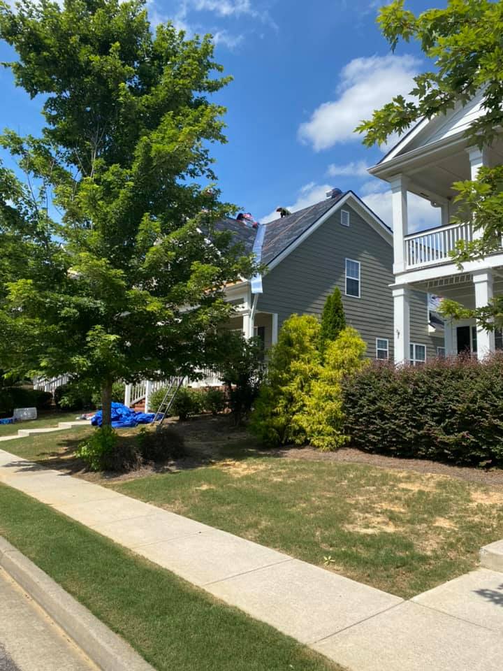
[[[159,671],[342,671],[6,485],[0,534]]]

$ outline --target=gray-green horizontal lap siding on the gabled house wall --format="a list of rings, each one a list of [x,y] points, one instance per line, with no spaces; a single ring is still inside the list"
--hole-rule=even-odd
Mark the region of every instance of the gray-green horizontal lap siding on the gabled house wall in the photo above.
[[[340,224],[340,210],[327,219],[286,259],[263,278],[258,310],[277,312],[278,325],[293,312],[321,314],[326,296],[340,288],[347,323],[367,342],[367,355],[375,357],[376,338],[387,338],[393,358],[393,247],[347,205],[350,226]],[[345,295],[345,259],[360,262],[360,298]],[[411,340],[435,352],[428,333],[427,296],[414,294],[411,301]]]

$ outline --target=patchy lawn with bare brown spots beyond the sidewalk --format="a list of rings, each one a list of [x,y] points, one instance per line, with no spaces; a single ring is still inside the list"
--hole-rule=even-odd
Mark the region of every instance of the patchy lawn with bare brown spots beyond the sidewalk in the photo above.
[[[404,598],[503,537],[503,493],[360,464],[248,456],[114,488]]]

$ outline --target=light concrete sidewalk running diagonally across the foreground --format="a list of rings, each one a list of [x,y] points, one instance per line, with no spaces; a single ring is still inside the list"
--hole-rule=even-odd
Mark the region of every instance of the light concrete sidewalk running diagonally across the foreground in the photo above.
[[[503,574],[411,602],[0,450],[0,482],[51,505],[351,671],[500,671]],[[496,595],[496,596],[495,596]]]

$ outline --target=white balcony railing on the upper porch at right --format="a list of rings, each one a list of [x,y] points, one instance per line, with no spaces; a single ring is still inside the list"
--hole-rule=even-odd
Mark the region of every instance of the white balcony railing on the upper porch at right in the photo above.
[[[472,242],[472,224],[451,224],[437,229],[421,231],[404,238],[405,264],[407,268],[435,266],[451,261],[458,240]]]

